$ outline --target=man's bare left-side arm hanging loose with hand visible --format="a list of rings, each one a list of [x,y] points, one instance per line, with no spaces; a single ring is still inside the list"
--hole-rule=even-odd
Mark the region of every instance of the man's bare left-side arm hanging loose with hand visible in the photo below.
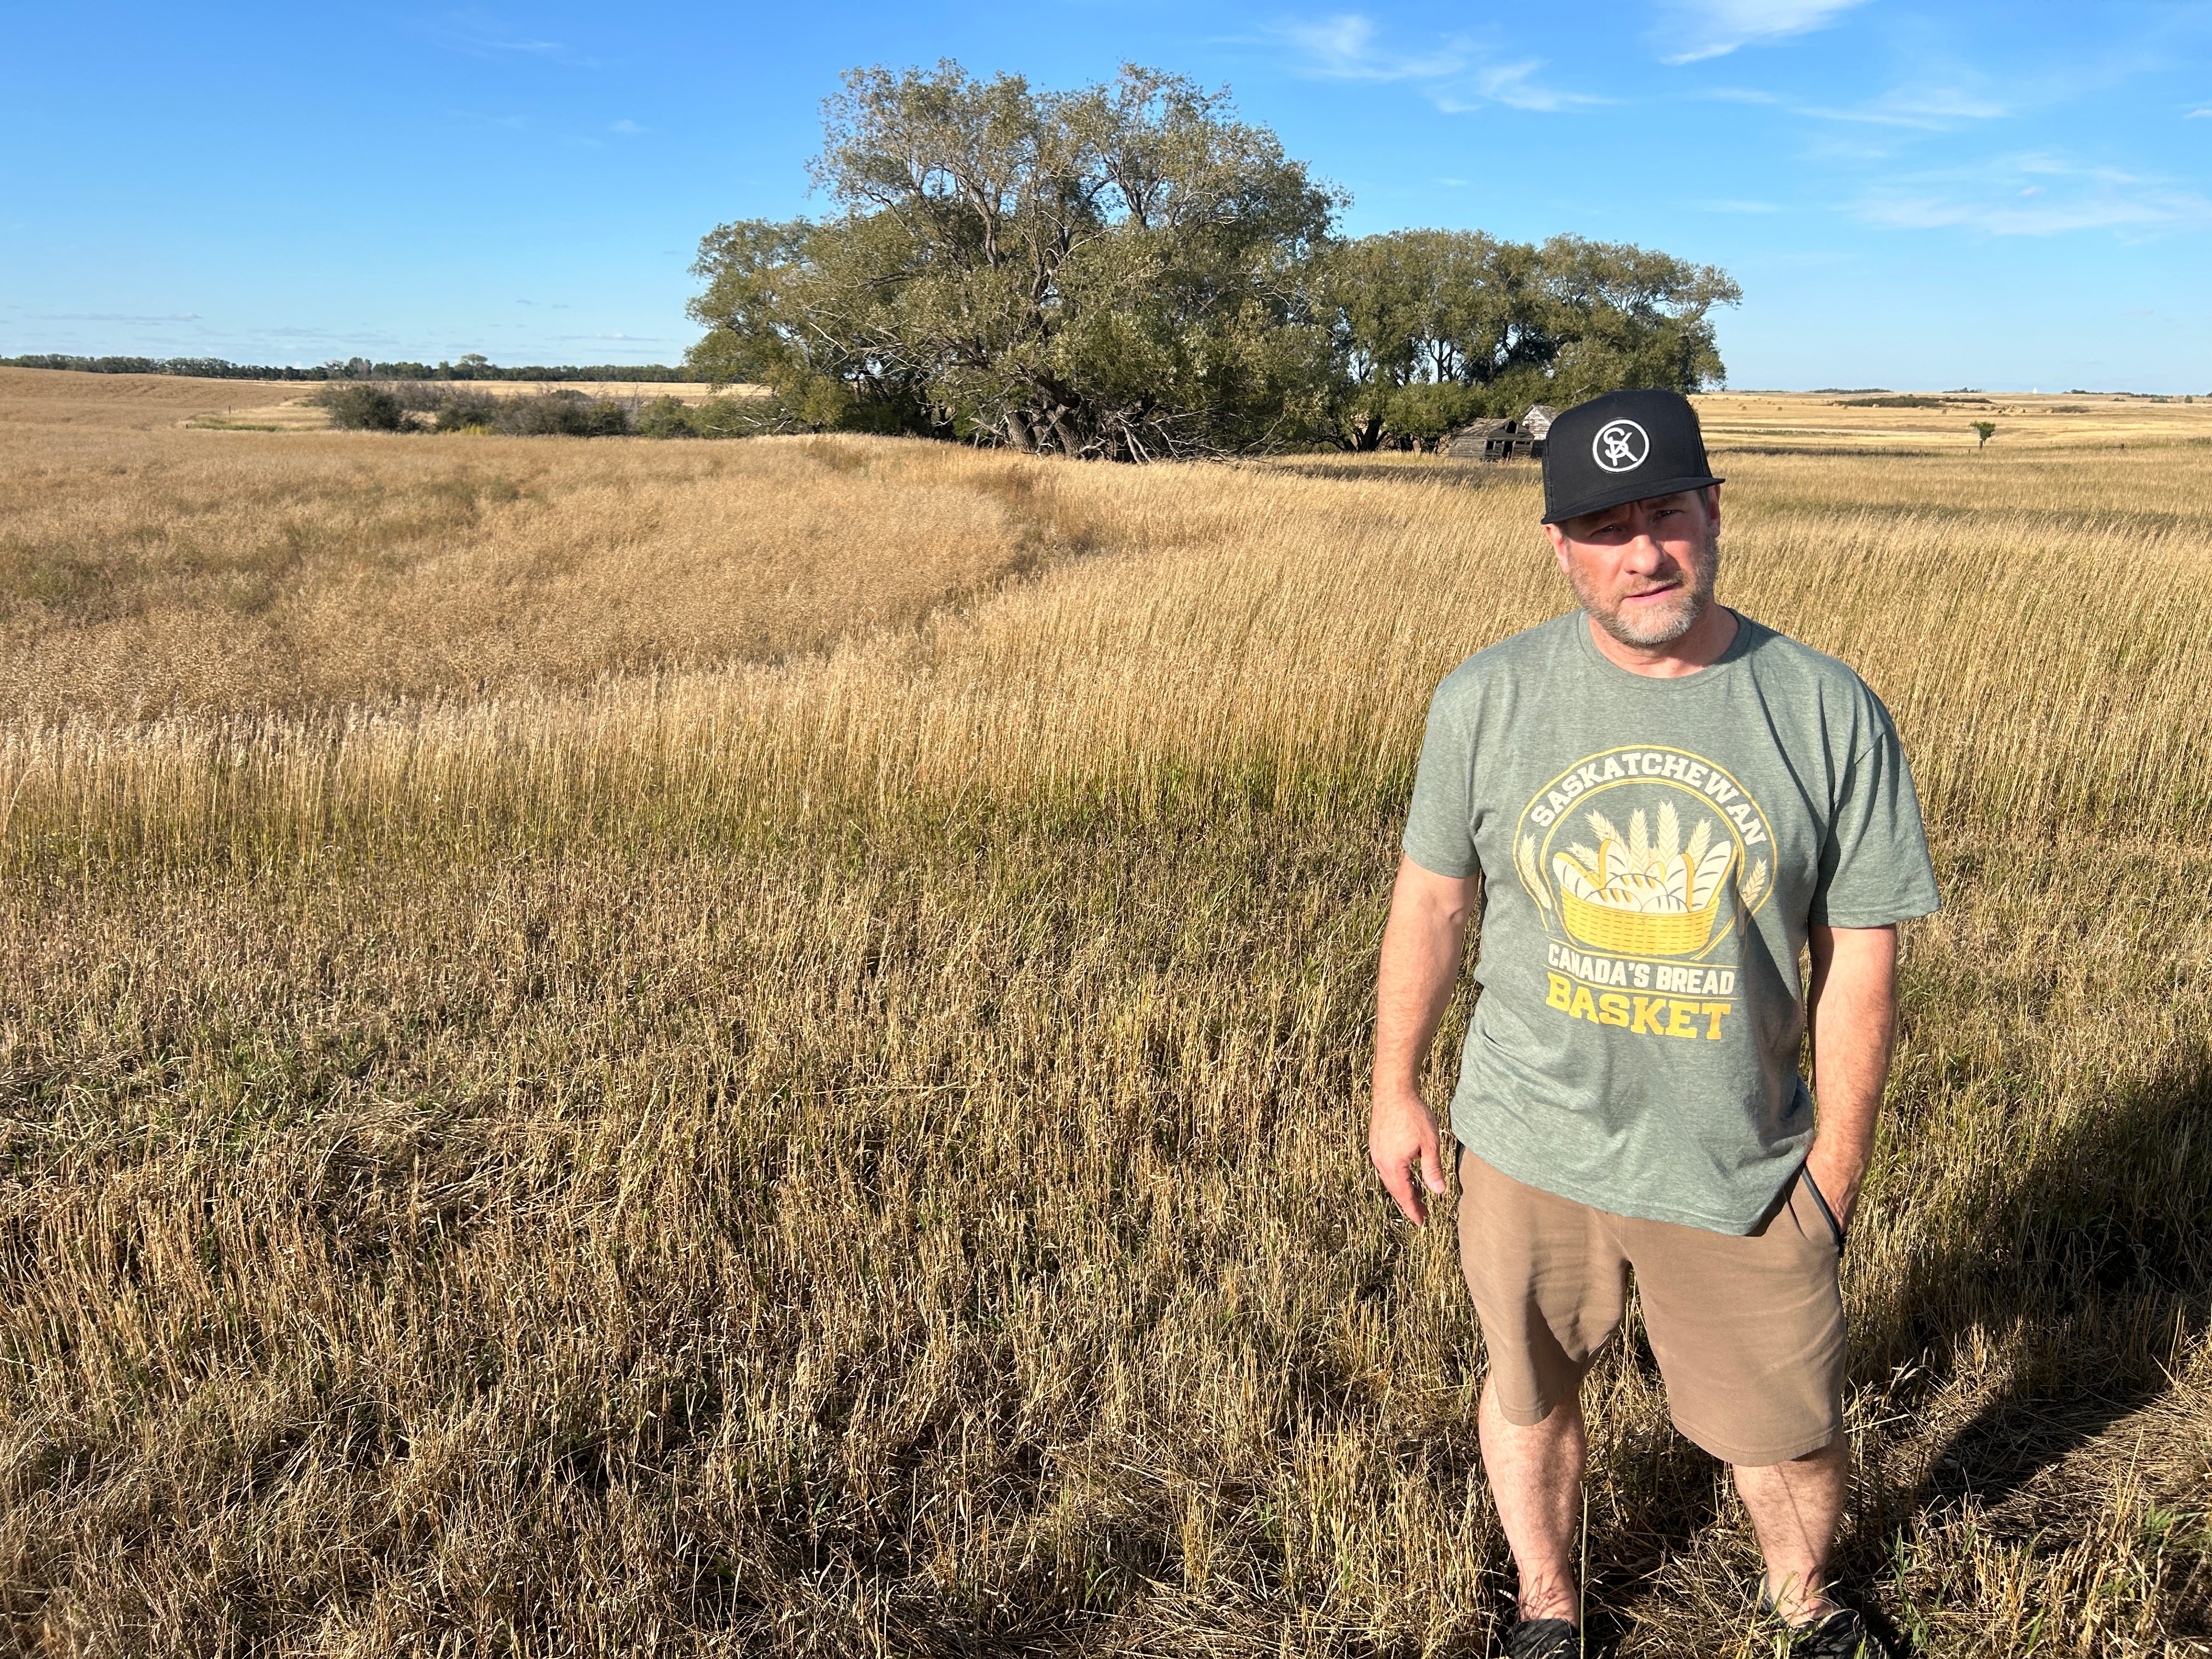
[[[1398,860],[1398,885],[1383,929],[1376,973],[1376,1093],[1367,1155],[1407,1221],[1427,1221],[1420,1188],[1444,1190],[1436,1119],[1420,1097],[1429,1042],[1460,980],[1460,947],[1475,905],[1478,876],[1438,876]],[[1420,1181],[1413,1181],[1413,1166]]]

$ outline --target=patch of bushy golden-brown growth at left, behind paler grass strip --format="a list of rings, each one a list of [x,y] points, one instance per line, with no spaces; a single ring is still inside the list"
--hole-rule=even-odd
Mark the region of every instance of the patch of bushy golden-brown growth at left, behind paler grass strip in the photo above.
[[[0,469],[0,706],[272,714],[765,659],[918,622],[1048,551],[1026,478],[980,460],[283,438],[22,442]]]

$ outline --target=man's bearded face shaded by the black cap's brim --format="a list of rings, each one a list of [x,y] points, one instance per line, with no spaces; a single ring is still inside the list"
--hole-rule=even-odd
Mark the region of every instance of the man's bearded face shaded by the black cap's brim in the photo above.
[[[1712,604],[1721,568],[1719,484],[1544,529],[1582,608],[1624,646],[1670,646]]]

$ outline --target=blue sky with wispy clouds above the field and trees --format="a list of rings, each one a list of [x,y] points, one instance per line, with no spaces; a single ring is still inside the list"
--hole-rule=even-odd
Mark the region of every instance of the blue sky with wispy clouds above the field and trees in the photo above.
[[[1739,387],[2212,389],[2212,4],[0,4],[0,354],[675,361],[854,64],[1228,86],[1343,228],[1723,265]]]

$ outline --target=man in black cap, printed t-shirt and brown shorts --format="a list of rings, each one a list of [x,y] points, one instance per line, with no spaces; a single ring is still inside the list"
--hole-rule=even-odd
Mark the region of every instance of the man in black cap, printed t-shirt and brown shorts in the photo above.
[[[1674,1427],[1734,1464],[1761,1606],[1798,1655],[1880,1659],[1827,1582],[1849,1467],[1836,1263],[1896,925],[1938,905],[1911,774],[1858,675],[1714,604],[1721,480],[1688,398],[1562,414],[1544,526],[1582,608],[1469,657],[1429,706],[1369,1128],[1422,1221],[1444,1170],[1420,1073],[1480,909],[1451,1130],[1482,1460],[1520,1568],[1506,1652],[1577,1650],[1577,1391],[1635,1270]]]

